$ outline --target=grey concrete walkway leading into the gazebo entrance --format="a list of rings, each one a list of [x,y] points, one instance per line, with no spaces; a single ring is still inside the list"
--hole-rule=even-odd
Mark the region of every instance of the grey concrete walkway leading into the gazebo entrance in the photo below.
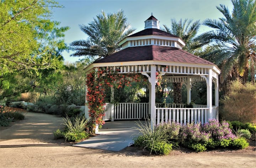
[[[76,143],[73,146],[103,149],[109,151],[121,151],[126,148],[133,138],[138,136],[137,123],[145,124],[145,121],[113,121],[106,122],[97,136]]]

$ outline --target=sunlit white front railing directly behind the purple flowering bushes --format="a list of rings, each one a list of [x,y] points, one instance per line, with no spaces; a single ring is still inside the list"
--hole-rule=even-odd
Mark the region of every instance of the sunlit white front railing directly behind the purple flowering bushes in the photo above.
[[[174,121],[181,124],[207,122],[209,108],[156,108],[156,124]]]

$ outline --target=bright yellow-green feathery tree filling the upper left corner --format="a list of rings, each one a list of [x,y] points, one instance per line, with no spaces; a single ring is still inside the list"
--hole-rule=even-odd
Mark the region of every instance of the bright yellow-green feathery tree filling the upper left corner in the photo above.
[[[69,27],[50,20],[52,7],[61,6],[53,0],[0,1],[1,97],[27,92],[40,83],[42,73],[62,67]]]

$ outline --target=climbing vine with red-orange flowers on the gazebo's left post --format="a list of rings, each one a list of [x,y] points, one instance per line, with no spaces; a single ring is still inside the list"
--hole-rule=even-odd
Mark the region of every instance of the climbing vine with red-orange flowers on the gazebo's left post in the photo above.
[[[86,77],[86,100],[89,108],[89,116],[92,118],[95,124],[100,127],[105,124],[103,116],[105,115],[104,103],[105,103],[105,88],[116,87],[120,88],[124,84],[125,86],[132,86],[131,82],[143,82],[147,81],[147,78],[140,73],[119,73],[119,69],[111,68],[94,68]]]

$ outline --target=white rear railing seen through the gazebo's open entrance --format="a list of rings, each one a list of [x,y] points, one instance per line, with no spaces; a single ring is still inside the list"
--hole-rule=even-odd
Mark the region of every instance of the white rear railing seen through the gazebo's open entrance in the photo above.
[[[114,120],[125,119],[143,119],[148,118],[148,104],[149,103],[105,103],[105,116],[103,120],[111,119],[111,107],[114,110],[112,114]]]

